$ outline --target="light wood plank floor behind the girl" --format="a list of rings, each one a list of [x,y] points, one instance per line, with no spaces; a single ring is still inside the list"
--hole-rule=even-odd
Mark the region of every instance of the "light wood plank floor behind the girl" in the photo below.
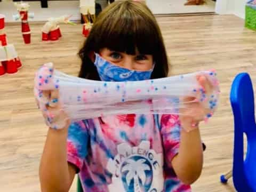
[[[256,33],[244,29],[234,15],[158,18],[172,65],[170,75],[217,69],[221,99],[209,124],[202,124],[207,149],[201,178],[194,191],[234,191],[231,180],[221,185],[219,176],[230,170],[233,156],[233,118],[230,85],[242,71],[256,80]],[[24,67],[18,74],[0,77],[0,190],[39,191],[38,165],[47,128],[33,95],[34,73],[53,62],[64,73],[77,75],[78,47],[84,41],[82,26],[61,26],[58,42],[41,42],[42,23],[30,23],[31,44],[23,44],[21,26],[7,24],[9,43],[14,43]],[[76,183],[70,191],[76,191]]]

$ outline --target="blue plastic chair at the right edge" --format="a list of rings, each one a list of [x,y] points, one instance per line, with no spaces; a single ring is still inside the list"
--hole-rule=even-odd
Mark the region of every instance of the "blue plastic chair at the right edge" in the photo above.
[[[234,159],[233,171],[221,175],[221,182],[226,183],[233,175],[233,182],[238,192],[256,191],[256,124],[254,117],[253,87],[249,74],[236,76],[231,86],[230,102],[234,114]],[[247,153],[244,161],[244,139],[247,137]]]

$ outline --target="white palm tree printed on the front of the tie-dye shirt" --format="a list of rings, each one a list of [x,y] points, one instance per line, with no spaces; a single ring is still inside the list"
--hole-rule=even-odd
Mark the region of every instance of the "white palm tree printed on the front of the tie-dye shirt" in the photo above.
[[[144,189],[141,188],[141,185],[145,185],[146,182],[145,171],[150,171],[150,167],[145,162],[146,159],[143,158],[138,159],[138,161],[134,161],[133,159],[127,159],[127,164],[122,169],[122,172],[128,171],[126,174],[126,183],[128,186],[130,186],[133,179],[134,192],[144,191]],[[141,185],[139,180],[141,181]]]

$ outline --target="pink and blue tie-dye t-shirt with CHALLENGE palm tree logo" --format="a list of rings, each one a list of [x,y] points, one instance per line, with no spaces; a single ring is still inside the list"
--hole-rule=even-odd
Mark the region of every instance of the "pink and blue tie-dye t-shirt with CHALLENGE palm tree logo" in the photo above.
[[[180,122],[175,115],[117,115],[70,125],[68,162],[86,192],[191,191],[172,169]]]

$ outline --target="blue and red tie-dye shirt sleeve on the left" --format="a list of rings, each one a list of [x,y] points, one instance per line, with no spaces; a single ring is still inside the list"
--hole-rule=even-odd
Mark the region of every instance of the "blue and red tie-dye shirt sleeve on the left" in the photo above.
[[[71,123],[68,128],[67,159],[77,167],[77,172],[82,169],[87,155],[88,131],[83,121]]]

